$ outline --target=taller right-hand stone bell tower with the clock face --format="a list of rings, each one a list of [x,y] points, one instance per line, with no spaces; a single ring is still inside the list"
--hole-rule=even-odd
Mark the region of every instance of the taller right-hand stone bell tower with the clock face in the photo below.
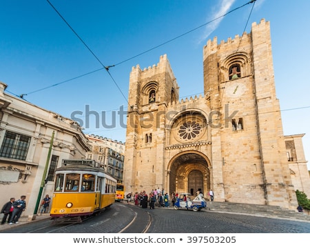
[[[204,90],[211,112],[214,186],[225,199],[296,208],[273,78],[270,25],[203,50]],[[223,182],[219,181],[223,177]],[[218,180],[218,181],[217,181]],[[234,184],[234,186],[232,186]]]

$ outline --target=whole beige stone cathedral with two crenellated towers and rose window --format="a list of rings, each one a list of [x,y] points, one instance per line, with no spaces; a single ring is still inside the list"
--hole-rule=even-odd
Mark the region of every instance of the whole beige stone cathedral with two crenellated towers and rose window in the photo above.
[[[284,136],[270,25],[203,48],[204,95],[179,99],[167,55],[130,72],[126,192],[200,190],[215,201],[296,209],[310,195],[302,136]]]

